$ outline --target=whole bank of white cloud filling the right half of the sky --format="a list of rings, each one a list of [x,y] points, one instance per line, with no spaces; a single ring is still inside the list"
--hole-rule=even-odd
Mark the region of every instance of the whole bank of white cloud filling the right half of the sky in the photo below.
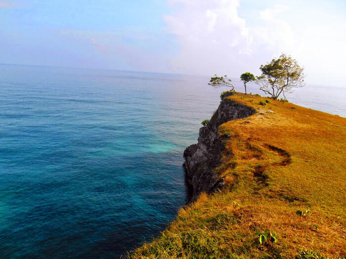
[[[172,13],[164,17],[168,32],[178,37],[180,54],[171,60],[183,74],[259,73],[281,53],[305,67],[314,83],[343,84],[346,60],[346,20],[310,5],[267,1],[269,8],[243,9],[239,0],[168,0]],[[316,5],[317,6],[317,5]]]

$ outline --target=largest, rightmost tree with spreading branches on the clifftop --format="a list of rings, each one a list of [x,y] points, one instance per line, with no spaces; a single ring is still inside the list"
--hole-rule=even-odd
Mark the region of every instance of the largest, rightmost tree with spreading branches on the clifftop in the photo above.
[[[273,99],[277,99],[281,93],[286,99],[285,92],[305,85],[304,69],[291,56],[281,54],[278,59],[261,65],[259,69],[262,74],[257,76],[255,82],[259,85],[260,90]]]

